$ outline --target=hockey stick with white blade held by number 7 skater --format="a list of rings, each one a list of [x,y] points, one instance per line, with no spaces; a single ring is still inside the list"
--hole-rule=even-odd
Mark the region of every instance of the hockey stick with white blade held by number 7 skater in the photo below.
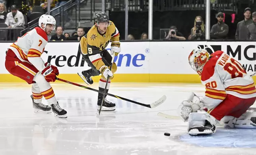
[[[80,84],[77,84],[77,83],[73,83],[73,82],[70,82],[70,81],[66,81],[66,80],[60,79],[60,78],[58,78],[58,77],[56,77],[56,80],[59,80],[59,81],[62,81],[62,82],[66,82],[66,83],[69,83],[69,84],[71,84],[71,85],[76,85],[76,86],[78,86],[78,87],[82,87],[82,88],[89,89],[89,90],[91,90],[91,91],[95,91],[95,92],[98,92],[98,93],[103,94],[102,91],[98,91],[97,89],[93,89],[93,88],[90,88],[90,87],[86,87],[86,86],[84,86],[84,85],[80,85]],[[119,99],[121,99],[121,100],[125,100],[125,101],[128,101],[128,102],[134,103],[134,104],[138,104],[138,105],[140,105],[140,106],[144,106],[144,107],[147,107],[147,108],[155,108],[155,107],[159,106],[160,104],[162,104],[163,102],[165,102],[165,100],[166,100],[166,96],[163,95],[159,100],[157,100],[157,101],[155,101],[155,102],[153,102],[153,103],[151,103],[151,104],[143,104],[143,103],[140,103],[140,102],[136,102],[136,101],[134,101],[134,100],[129,100],[129,99],[124,98],[124,97],[121,97],[121,96],[112,95],[112,94],[109,94],[109,93],[105,93],[105,94],[106,94],[106,95],[109,95],[109,96],[112,96],[112,97],[114,97],[114,98],[119,98]]]

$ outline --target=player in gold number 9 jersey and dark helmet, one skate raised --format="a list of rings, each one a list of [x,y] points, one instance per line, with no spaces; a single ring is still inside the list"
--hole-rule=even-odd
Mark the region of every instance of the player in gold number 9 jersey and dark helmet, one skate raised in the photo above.
[[[111,40],[111,54],[105,49]],[[117,66],[112,64],[112,70],[109,70],[113,53],[118,55],[120,53],[119,32],[112,21],[109,21],[109,17],[104,13],[97,13],[95,16],[95,25],[91,27],[85,36],[80,40],[79,51],[83,58],[91,67],[89,70],[82,71],[80,77],[87,83],[92,84],[93,80],[91,76],[98,76],[101,74],[99,80],[99,91],[104,91],[107,84],[107,77],[109,77],[107,92],[111,79],[113,79],[113,73],[116,72]],[[98,110],[101,106],[103,95],[98,95]],[[113,111],[115,110],[115,104],[104,100],[102,110]]]

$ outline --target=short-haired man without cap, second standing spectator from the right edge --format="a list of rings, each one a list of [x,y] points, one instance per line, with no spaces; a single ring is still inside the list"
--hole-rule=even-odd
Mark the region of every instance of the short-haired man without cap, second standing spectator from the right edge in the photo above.
[[[248,38],[248,28],[247,26],[252,24],[253,21],[250,19],[251,17],[251,9],[244,9],[244,20],[237,23],[237,31],[236,31],[236,40],[247,40]]]

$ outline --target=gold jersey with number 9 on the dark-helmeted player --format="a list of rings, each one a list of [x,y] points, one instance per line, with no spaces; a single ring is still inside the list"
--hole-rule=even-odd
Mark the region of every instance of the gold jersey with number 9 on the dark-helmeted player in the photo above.
[[[105,50],[110,40],[119,42],[119,32],[112,21],[109,21],[109,26],[105,34],[100,34],[96,25],[93,25],[85,36],[80,40],[80,48],[83,55],[88,55],[89,59],[97,70],[105,65],[101,52]]]

